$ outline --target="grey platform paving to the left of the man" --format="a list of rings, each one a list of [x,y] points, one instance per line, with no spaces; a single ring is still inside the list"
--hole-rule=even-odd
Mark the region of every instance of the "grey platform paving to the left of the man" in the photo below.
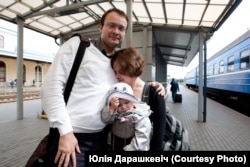
[[[38,119],[41,102],[24,102],[24,118],[17,120],[16,103],[0,104],[0,167],[24,167],[36,145],[48,133],[48,121]]]

